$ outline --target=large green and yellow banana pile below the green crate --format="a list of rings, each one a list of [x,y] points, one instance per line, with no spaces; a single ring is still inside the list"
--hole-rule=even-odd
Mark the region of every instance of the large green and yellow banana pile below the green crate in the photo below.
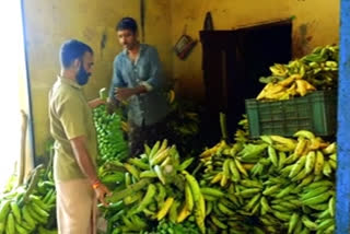
[[[336,143],[305,130],[207,149],[209,233],[332,233],[336,155]]]

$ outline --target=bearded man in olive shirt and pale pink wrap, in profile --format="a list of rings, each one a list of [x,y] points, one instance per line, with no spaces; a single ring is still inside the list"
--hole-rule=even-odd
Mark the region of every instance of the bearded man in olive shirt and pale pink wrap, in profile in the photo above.
[[[103,204],[108,189],[96,173],[97,139],[92,108],[82,86],[93,67],[93,50],[79,40],[60,49],[61,72],[49,93],[50,132],[55,139],[54,177],[60,234],[95,234],[96,201]]]

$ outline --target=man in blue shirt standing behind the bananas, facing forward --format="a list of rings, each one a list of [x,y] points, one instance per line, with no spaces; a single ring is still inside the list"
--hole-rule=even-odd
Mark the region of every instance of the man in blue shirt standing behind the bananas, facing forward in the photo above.
[[[143,143],[165,138],[166,81],[156,49],[139,43],[136,21],[124,17],[116,30],[124,50],[114,60],[109,101],[128,104],[130,153],[137,155]]]

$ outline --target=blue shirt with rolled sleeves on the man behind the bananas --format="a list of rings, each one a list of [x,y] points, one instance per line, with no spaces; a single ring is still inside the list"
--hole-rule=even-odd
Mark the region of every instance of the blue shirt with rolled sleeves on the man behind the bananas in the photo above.
[[[141,44],[138,59],[132,62],[125,49],[116,56],[113,63],[113,79],[109,98],[116,102],[115,87],[136,87],[144,85],[147,93],[133,95],[128,100],[128,119],[137,126],[150,126],[162,120],[168,105],[165,96],[165,78],[161,61],[154,47]]]

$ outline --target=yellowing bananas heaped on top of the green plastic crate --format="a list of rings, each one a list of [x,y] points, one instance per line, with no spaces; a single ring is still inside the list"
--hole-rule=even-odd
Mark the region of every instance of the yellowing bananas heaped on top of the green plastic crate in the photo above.
[[[317,47],[288,65],[275,63],[270,67],[271,75],[259,79],[267,84],[256,98],[280,101],[304,96],[315,90],[337,89],[338,54],[338,46]]]

